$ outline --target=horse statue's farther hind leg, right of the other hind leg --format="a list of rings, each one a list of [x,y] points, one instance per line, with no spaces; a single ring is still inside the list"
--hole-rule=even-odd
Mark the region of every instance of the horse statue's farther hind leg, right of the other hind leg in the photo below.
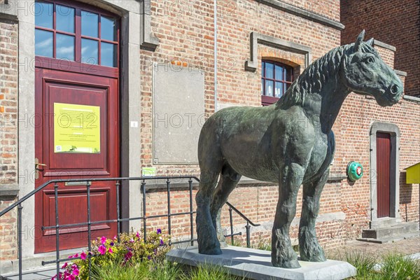
[[[223,234],[223,228],[221,227],[221,210],[240,179],[241,175],[235,172],[230,165],[225,164],[222,169],[218,186],[213,195],[213,201],[211,202],[211,221],[216,229],[218,240],[223,243],[225,242],[225,235]]]

